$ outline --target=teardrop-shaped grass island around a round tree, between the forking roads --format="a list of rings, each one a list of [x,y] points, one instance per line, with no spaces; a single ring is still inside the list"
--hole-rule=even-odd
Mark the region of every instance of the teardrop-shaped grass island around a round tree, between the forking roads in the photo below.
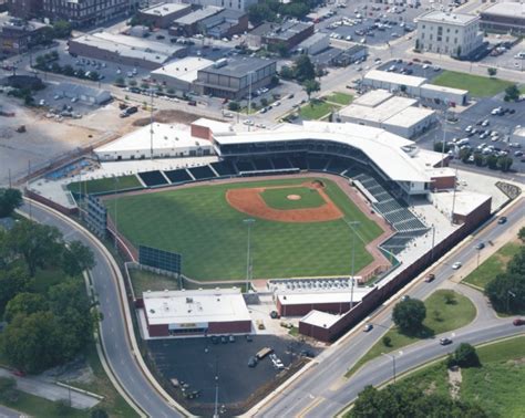
[[[445,294],[454,296],[454,303],[445,302]],[[390,345],[385,346],[382,338],[378,341],[370,351],[362,356],[356,365],[347,373],[347,377],[356,373],[368,360],[375,358],[381,353],[390,353],[409,344],[415,343],[421,338],[428,338],[435,334],[457,330],[471,323],[476,316],[474,304],[465,297],[451,290],[437,290],[425,301],[426,318],[423,321],[423,331],[418,335],[405,335],[399,332],[397,327],[391,328],[385,336],[391,338]]]

